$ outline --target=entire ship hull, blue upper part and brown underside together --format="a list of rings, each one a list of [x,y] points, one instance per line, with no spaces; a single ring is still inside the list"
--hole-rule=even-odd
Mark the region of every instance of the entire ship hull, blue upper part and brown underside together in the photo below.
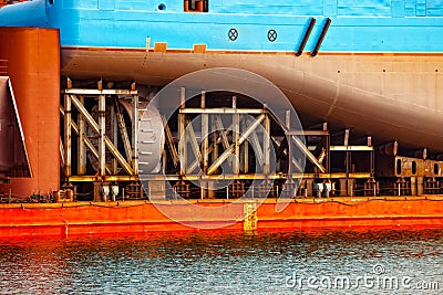
[[[280,87],[307,125],[442,152],[440,4],[333,2],[209,1],[189,13],[179,1],[37,0],[2,8],[0,25],[59,29],[71,78],[163,86],[202,69],[244,69]]]

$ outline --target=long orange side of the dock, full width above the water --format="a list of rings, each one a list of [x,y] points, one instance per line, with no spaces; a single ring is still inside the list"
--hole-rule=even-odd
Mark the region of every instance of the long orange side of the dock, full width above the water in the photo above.
[[[326,228],[435,228],[443,226],[443,198],[385,198],[331,200],[300,199],[276,212],[275,200],[258,207],[257,230]],[[244,203],[226,207],[223,200],[158,204],[122,203],[0,204],[0,236],[71,235],[187,231],[194,226],[244,229]],[[217,210],[208,211],[207,207]],[[187,225],[183,224],[185,221]]]

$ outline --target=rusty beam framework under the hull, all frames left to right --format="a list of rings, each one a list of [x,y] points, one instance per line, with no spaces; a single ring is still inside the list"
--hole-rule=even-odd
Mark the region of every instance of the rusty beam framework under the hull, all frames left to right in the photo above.
[[[142,119],[138,118],[138,112],[143,109],[138,108],[140,98],[135,84],[131,86],[131,89],[103,89],[102,82],[97,83],[96,89],[73,88],[71,85],[72,83],[69,81],[66,89],[62,91],[63,106],[60,107],[64,122],[61,156],[65,186],[71,186],[71,182],[84,181],[94,183],[140,182],[138,165],[142,165],[142,162],[138,162],[138,137],[143,130],[138,127],[138,122]],[[131,97],[132,101],[132,109],[126,108],[132,116],[131,134],[126,128],[119,95]],[[159,180],[158,175],[146,175],[140,170],[143,179],[147,180],[148,186],[155,187],[154,190],[158,196],[164,193],[166,198],[168,193],[162,192],[164,185],[159,181],[172,181],[174,192],[185,192],[186,196],[189,194],[189,181],[197,181],[202,198],[214,198],[215,192],[212,189],[216,187],[216,181],[220,180],[234,181],[229,185],[233,191],[227,193],[227,198],[229,196],[234,198],[241,196],[245,183],[251,183],[253,180],[261,180],[265,187],[271,181],[278,180],[279,182],[275,186],[281,188],[271,188],[271,193],[277,190],[274,196],[278,196],[278,191],[284,190],[299,193],[299,189],[302,187],[309,188],[308,194],[312,196],[312,187],[316,182],[330,183],[332,179],[367,179],[373,182],[373,147],[370,144],[368,146],[349,146],[347,144],[349,131],[346,133],[348,137],[346,137],[343,146],[331,146],[327,124],[323,124],[322,130],[295,130],[290,126],[289,110],[282,126],[280,120],[267,109],[266,105],[255,108],[238,107],[237,95],[231,96],[229,107],[213,108],[207,107],[207,94],[205,92],[202,92],[199,97],[195,98],[199,98],[199,107],[186,106],[185,87],[182,87],[179,95],[177,126],[171,126],[172,122],[175,120],[167,122],[164,115],[159,117],[163,122],[167,146],[162,154],[163,171],[166,170],[167,159],[171,158],[173,170],[175,169],[176,172],[163,175],[162,180]],[[91,99],[97,102],[92,103]],[[97,119],[91,114],[91,105],[94,105],[97,109]],[[106,108],[106,106],[109,107]],[[106,109],[111,112],[107,120],[112,120],[112,128],[107,131]],[[197,126],[195,126],[195,123],[193,125],[193,118],[196,116],[199,116]],[[226,117],[229,119],[224,120],[223,118]],[[90,133],[92,130],[97,138],[96,143],[93,143],[86,136],[86,128]],[[271,134],[271,130],[278,128],[278,136]],[[172,130],[177,130],[176,138],[174,138],[175,134]],[[112,136],[109,133],[112,133]],[[75,134],[75,143],[73,143],[73,134]],[[317,146],[312,147],[305,144],[300,136],[306,138],[312,136],[321,139],[317,143]],[[119,140],[123,143],[120,147]],[[76,145],[75,149],[73,149],[73,145]],[[271,159],[272,148],[276,148],[275,159]],[[256,169],[250,167],[251,149],[255,151],[256,166],[254,167]],[[74,156],[72,152],[75,150],[78,154]],[[292,157],[292,151],[296,150],[300,151],[300,155],[311,164],[312,172],[305,172],[302,162]],[[107,161],[106,151],[112,155],[112,159]],[[331,172],[330,158],[333,151],[346,151],[347,159],[348,154],[369,151],[371,154],[370,171],[351,171],[347,161],[344,171]],[[86,175],[87,154],[97,160],[95,175]],[[76,159],[76,162],[74,162],[78,168],[76,172],[72,171],[73,159]],[[275,171],[271,171],[272,160],[279,167]],[[230,171],[220,173],[220,167],[225,164]],[[257,165],[259,169],[257,169]],[[120,172],[117,172],[119,170]],[[372,189],[372,187],[369,187],[369,189]],[[347,188],[346,193],[350,194],[350,190],[352,190],[352,187]],[[148,188],[148,191],[153,190]],[[256,188],[256,192],[260,192],[258,193],[260,196],[262,194],[261,191],[262,188]]]

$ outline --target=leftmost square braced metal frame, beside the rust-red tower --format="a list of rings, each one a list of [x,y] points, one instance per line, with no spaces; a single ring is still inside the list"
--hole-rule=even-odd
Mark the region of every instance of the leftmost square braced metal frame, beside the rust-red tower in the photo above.
[[[61,145],[63,177],[66,183],[76,181],[136,181],[137,180],[137,113],[138,113],[138,93],[135,85],[131,89],[103,89],[102,82],[97,83],[97,89],[72,88],[72,83],[68,81],[68,88],[62,92],[64,105],[60,107],[63,116],[64,140]],[[132,96],[133,109],[132,122],[132,143],[123,119],[122,109],[114,96]],[[97,120],[86,109],[85,102],[97,99]],[[111,105],[112,136],[106,134],[106,104]],[[76,114],[76,120],[73,118],[73,109]],[[86,126],[97,137],[97,145],[94,145],[85,135]],[[72,172],[72,131],[78,136],[76,140],[76,173]],[[117,134],[124,145],[122,155],[117,148]],[[113,140],[111,138],[113,138]],[[106,162],[106,150],[112,155],[111,162]],[[86,154],[90,152],[97,160],[97,171],[94,176],[86,176]],[[117,173],[117,168],[124,170],[124,175]]]

